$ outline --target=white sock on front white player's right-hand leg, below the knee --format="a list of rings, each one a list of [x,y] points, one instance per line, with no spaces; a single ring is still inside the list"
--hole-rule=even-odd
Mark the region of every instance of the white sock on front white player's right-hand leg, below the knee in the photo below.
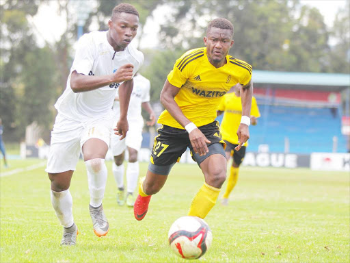
[[[105,159],[92,159],[85,162],[87,182],[90,190],[90,205],[98,208],[102,204],[107,182]]]

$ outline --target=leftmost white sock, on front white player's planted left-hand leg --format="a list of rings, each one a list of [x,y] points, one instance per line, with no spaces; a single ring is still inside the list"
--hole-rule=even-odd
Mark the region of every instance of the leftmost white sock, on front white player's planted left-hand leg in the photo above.
[[[61,225],[66,228],[71,227],[74,223],[72,213],[73,199],[69,189],[62,192],[51,190],[51,203]]]

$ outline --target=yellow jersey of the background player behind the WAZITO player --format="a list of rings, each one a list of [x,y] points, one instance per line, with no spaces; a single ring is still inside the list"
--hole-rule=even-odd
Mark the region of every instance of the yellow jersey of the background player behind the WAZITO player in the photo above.
[[[238,145],[237,129],[241,123],[242,116],[241,97],[237,97],[234,93],[226,95],[221,99],[217,110],[224,112],[224,118],[222,118],[220,125],[221,137],[233,145]],[[255,97],[252,98],[250,115],[256,118],[260,117]],[[244,146],[247,146],[247,142],[245,142]]]

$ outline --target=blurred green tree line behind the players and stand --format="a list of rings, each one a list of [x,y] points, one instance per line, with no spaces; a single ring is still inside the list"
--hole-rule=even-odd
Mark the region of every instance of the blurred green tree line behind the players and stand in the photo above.
[[[66,17],[66,32],[57,42],[38,45],[32,22],[40,5],[48,0],[5,0],[0,6],[0,117],[5,140],[19,141],[33,121],[49,134],[56,111],[53,104],[66,88],[74,56],[77,24],[71,1],[55,0],[58,14]],[[50,1],[52,2],[52,1]],[[96,0],[85,23],[107,30],[106,21],[115,5],[123,1]],[[317,8],[287,0],[133,0],[140,14],[138,42],[154,10],[169,10],[159,31],[157,49],[142,50],[142,74],[151,81],[151,101],[158,101],[161,88],[175,60],[184,51],[203,46],[208,21],[228,18],[234,25],[230,55],[267,71],[322,73],[350,72],[349,3],[338,10],[334,25],[327,27]],[[47,21],[50,23],[50,21]]]

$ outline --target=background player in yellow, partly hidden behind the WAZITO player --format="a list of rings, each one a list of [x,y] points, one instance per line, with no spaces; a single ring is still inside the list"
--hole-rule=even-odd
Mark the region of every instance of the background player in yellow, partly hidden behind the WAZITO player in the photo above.
[[[228,196],[233,190],[234,186],[237,184],[239,166],[243,162],[245,156],[245,148],[247,143],[241,147],[238,151],[235,149],[239,145],[239,138],[237,136],[237,129],[241,121],[242,116],[242,105],[241,105],[241,88],[237,84],[234,86],[234,92],[224,96],[221,99],[221,103],[217,110],[217,115],[219,116],[224,112],[224,118],[221,121],[221,136],[226,142],[226,158],[230,161],[230,156],[232,156],[232,166],[230,169],[230,176],[228,177],[228,182],[226,186],[226,191],[222,198],[221,203],[223,205],[228,204]],[[256,125],[256,118],[260,117],[260,112],[258,105],[256,104],[255,97],[252,97],[252,110],[250,111],[250,121],[252,125]]]

